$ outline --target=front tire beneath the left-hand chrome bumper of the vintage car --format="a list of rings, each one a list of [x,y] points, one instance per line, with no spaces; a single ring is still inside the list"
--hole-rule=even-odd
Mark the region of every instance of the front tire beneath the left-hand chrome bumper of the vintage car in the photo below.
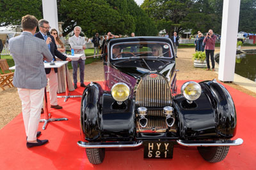
[[[101,164],[105,158],[105,148],[86,148],[86,155],[91,164]]]

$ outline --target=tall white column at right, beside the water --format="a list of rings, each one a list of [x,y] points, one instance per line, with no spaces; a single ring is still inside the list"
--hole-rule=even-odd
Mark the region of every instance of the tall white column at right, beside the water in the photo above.
[[[234,81],[240,0],[224,0],[221,26],[219,80]]]

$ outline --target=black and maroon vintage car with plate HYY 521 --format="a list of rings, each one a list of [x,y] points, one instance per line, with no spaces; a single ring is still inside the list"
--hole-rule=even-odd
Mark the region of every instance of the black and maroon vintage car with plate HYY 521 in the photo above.
[[[236,134],[236,108],[215,80],[188,81],[177,94],[169,38],[110,39],[104,46],[104,87],[91,82],[81,101],[81,138],[92,164],[105,148],[144,145],[144,158],[172,158],[173,145],[197,146],[209,162],[225,159]],[[142,155],[141,155],[142,156]]]

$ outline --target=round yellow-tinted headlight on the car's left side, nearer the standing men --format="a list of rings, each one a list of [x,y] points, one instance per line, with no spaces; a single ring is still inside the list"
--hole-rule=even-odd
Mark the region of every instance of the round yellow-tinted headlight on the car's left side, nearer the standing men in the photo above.
[[[111,95],[116,101],[125,101],[130,94],[130,88],[125,83],[116,83],[111,89]]]

